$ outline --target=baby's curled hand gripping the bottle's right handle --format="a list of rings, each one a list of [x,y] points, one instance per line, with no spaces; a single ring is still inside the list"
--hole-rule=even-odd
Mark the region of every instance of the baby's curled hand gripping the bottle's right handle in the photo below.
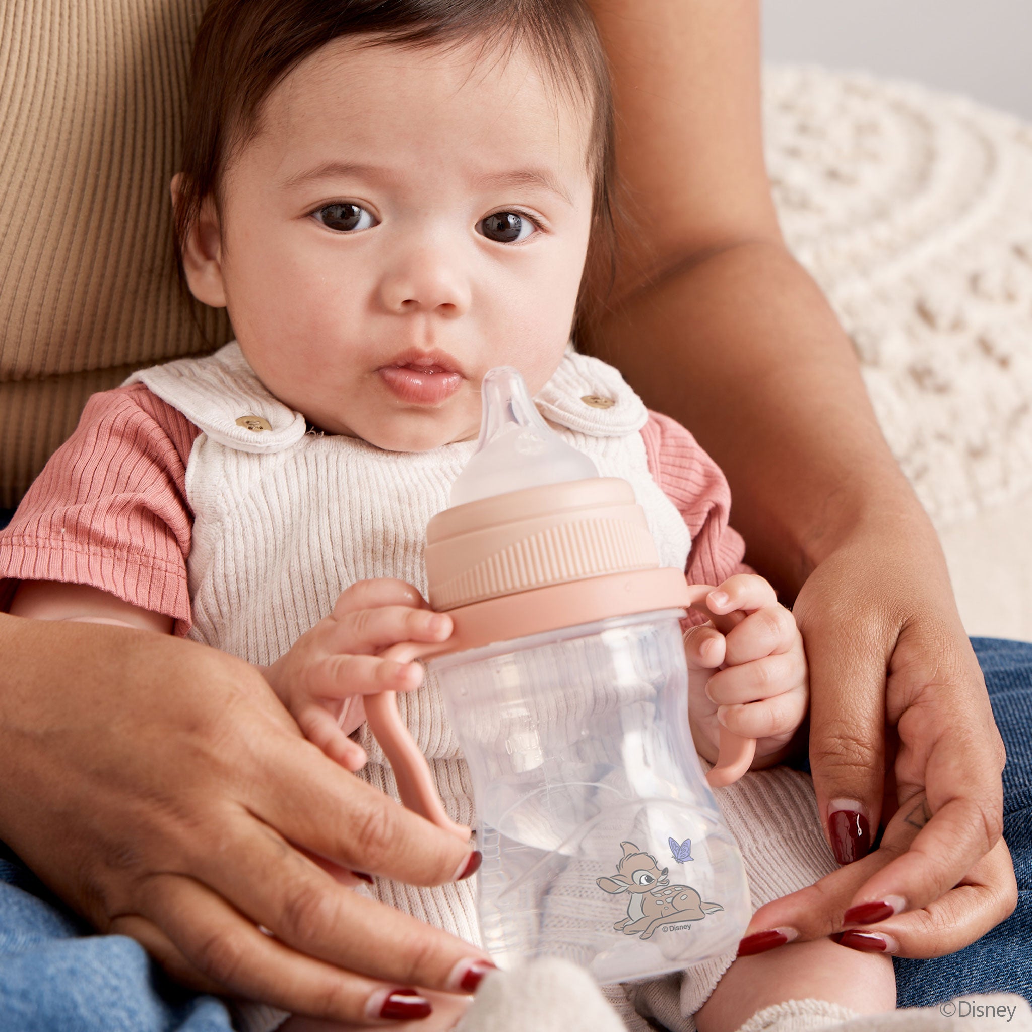
[[[806,715],[809,677],[792,613],[763,577],[736,574],[706,595],[706,607],[735,626],[712,623],[684,636],[688,720],[699,753],[716,760],[719,728],[756,739],[753,766],[787,745]]]

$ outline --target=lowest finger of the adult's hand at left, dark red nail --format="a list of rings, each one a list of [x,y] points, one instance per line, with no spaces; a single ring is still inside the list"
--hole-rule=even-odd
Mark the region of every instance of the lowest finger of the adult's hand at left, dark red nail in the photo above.
[[[165,874],[151,881],[146,916],[165,929],[191,966],[234,994],[314,1018],[357,1022],[380,1018],[391,993],[407,989],[301,956],[191,878]]]

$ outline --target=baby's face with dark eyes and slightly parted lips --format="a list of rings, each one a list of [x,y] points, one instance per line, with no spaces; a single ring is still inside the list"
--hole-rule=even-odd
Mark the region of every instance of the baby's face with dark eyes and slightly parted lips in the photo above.
[[[396,451],[475,437],[495,365],[540,390],[584,265],[587,137],[519,53],[342,40],[304,61],[223,183],[218,278],[265,386]]]

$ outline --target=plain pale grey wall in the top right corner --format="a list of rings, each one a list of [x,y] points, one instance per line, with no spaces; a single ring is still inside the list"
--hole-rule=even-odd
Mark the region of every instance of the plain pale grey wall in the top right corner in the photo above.
[[[763,0],[764,56],[966,93],[1032,121],[1032,0]]]

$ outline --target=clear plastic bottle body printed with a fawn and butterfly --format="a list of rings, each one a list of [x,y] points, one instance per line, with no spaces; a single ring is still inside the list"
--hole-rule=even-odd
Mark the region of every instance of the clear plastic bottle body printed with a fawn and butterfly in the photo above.
[[[688,732],[680,616],[430,662],[473,777],[481,928],[503,966],[563,956],[610,982],[737,946],[748,890]]]

